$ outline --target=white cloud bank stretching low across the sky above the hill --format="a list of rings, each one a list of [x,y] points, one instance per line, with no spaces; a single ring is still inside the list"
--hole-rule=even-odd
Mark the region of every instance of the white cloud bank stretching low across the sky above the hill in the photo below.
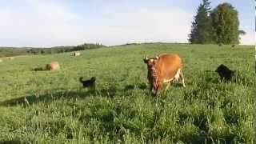
[[[28,10],[0,9],[0,46],[67,46],[83,42],[187,42],[193,15],[179,8],[108,9],[83,18],[69,6],[24,0]],[[26,9],[25,8],[25,9]],[[242,36],[254,44],[254,34]]]

